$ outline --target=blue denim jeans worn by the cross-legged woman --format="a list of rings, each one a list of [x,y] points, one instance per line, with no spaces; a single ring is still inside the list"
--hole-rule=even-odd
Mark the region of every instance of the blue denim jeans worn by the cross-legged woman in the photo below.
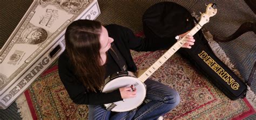
[[[144,83],[147,88],[145,99],[150,102],[142,104],[137,109],[113,115],[112,111],[106,110],[103,105],[89,105],[89,119],[157,119],[179,104],[180,97],[174,89],[150,79]]]

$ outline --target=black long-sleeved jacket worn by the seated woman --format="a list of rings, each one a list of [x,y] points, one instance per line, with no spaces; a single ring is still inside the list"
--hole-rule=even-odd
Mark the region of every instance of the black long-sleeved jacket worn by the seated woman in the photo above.
[[[113,44],[116,45],[120,54],[123,55],[127,70],[136,72],[137,67],[133,62],[130,49],[136,51],[154,51],[160,49],[169,49],[176,42],[173,38],[154,40],[149,38],[140,38],[133,34],[131,29],[119,25],[105,26],[109,32],[109,36],[114,39]],[[108,59],[107,63],[113,63],[113,59]],[[73,71],[72,64],[66,51],[60,55],[58,59],[59,77],[62,80],[70,98],[77,104],[105,104],[122,100],[119,89],[111,93],[88,92],[86,86],[78,82],[78,77]],[[106,67],[107,73],[114,73],[118,70],[111,66]],[[107,74],[107,76],[109,75]]]

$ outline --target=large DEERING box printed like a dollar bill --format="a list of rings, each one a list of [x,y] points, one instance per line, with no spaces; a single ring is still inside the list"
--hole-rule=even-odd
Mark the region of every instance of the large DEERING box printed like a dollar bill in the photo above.
[[[66,27],[96,19],[97,0],[35,0],[0,51],[0,109],[6,109],[65,49]]]

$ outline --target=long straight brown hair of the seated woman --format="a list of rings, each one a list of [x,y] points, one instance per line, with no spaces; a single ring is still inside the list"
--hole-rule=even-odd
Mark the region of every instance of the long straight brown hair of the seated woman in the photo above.
[[[79,81],[87,90],[96,92],[104,84],[105,68],[100,65],[100,33],[98,21],[77,20],[65,33],[66,51],[75,68]]]

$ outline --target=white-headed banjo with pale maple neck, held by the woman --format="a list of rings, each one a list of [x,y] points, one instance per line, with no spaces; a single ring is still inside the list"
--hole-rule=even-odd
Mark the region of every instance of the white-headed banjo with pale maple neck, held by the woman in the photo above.
[[[187,35],[193,36],[194,34],[196,34],[199,29],[201,29],[201,27],[209,21],[209,18],[214,16],[216,13],[217,9],[215,4],[208,4],[206,12],[201,14],[198,24],[193,27]],[[109,82],[107,82],[102,88],[103,93],[112,92],[120,87],[131,86],[132,89],[133,87],[136,87],[137,95],[136,97],[123,99],[123,101],[104,104],[107,110],[124,112],[135,109],[143,103],[146,97],[146,86],[144,85],[144,81],[149,78],[158,68],[160,68],[160,66],[163,65],[167,61],[167,59],[169,59],[174,53],[176,53],[176,51],[179,50],[179,48],[181,48],[184,43],[186,43],[185,37],[183,37],[182,39],[176,39],[178,39],[178,41],[138,78],[133,76],[133,74],[131,74],[130,72],[118,72],[116,74],[112,74],[109,77]]]

